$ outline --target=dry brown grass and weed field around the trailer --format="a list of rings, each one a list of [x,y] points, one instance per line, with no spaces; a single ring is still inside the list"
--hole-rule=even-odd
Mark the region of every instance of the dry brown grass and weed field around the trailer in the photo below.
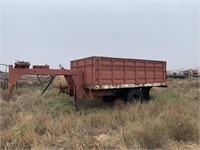
[[[199,149],[199,79],[167,81],[151,101],[73,99],[37,86],[1,91],[1,149]]]

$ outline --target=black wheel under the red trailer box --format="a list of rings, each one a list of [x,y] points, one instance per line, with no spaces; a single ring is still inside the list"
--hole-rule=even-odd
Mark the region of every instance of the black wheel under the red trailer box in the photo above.
[[[134,89],[128,92],[127,95],[127,103],[128,104],[135,104],[135,103],[142,103],[143,95],[139,89]]]

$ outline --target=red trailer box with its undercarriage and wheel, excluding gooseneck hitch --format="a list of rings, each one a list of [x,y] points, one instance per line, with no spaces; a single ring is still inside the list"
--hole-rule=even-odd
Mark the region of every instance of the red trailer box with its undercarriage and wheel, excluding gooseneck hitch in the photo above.
[[[165,61],[88,57],[71,61],[71,70],[83,71],[84,97],[133,102],[149,99],[152,87],[166,87]]]

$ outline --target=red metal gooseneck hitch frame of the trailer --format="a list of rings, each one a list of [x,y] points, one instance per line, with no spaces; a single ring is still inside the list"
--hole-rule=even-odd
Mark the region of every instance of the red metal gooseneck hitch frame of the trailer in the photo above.
[[[45,69],[45,68],[13,68],[12,65],[9,66],[9,76],[8,76],[8,94],[12,94],[12,86],[19,80],[23,75],[64,75],[67,82],[69,83],[69,94],[74,96],[76,94],[77,98],[82,98],[84,93],[83,90],[83,72],[80,70],[67,70],[67,69]],[[80,92],[78,92],[80,91]]]

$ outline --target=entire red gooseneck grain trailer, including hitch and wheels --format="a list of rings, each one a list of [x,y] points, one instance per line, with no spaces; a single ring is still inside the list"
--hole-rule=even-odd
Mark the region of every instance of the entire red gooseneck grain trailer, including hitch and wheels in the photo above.
[[[71,61],[70,69],[49,67],[13,68],[9,66],[8,94],[23,75],[63,75],[69,84],[68,94],[75,100],[112,97],[127,102],[149,99],[152,87],[166,87],[166,62],[110,57],[88,57]],[[43,91],[43,93],[45,92]]]

